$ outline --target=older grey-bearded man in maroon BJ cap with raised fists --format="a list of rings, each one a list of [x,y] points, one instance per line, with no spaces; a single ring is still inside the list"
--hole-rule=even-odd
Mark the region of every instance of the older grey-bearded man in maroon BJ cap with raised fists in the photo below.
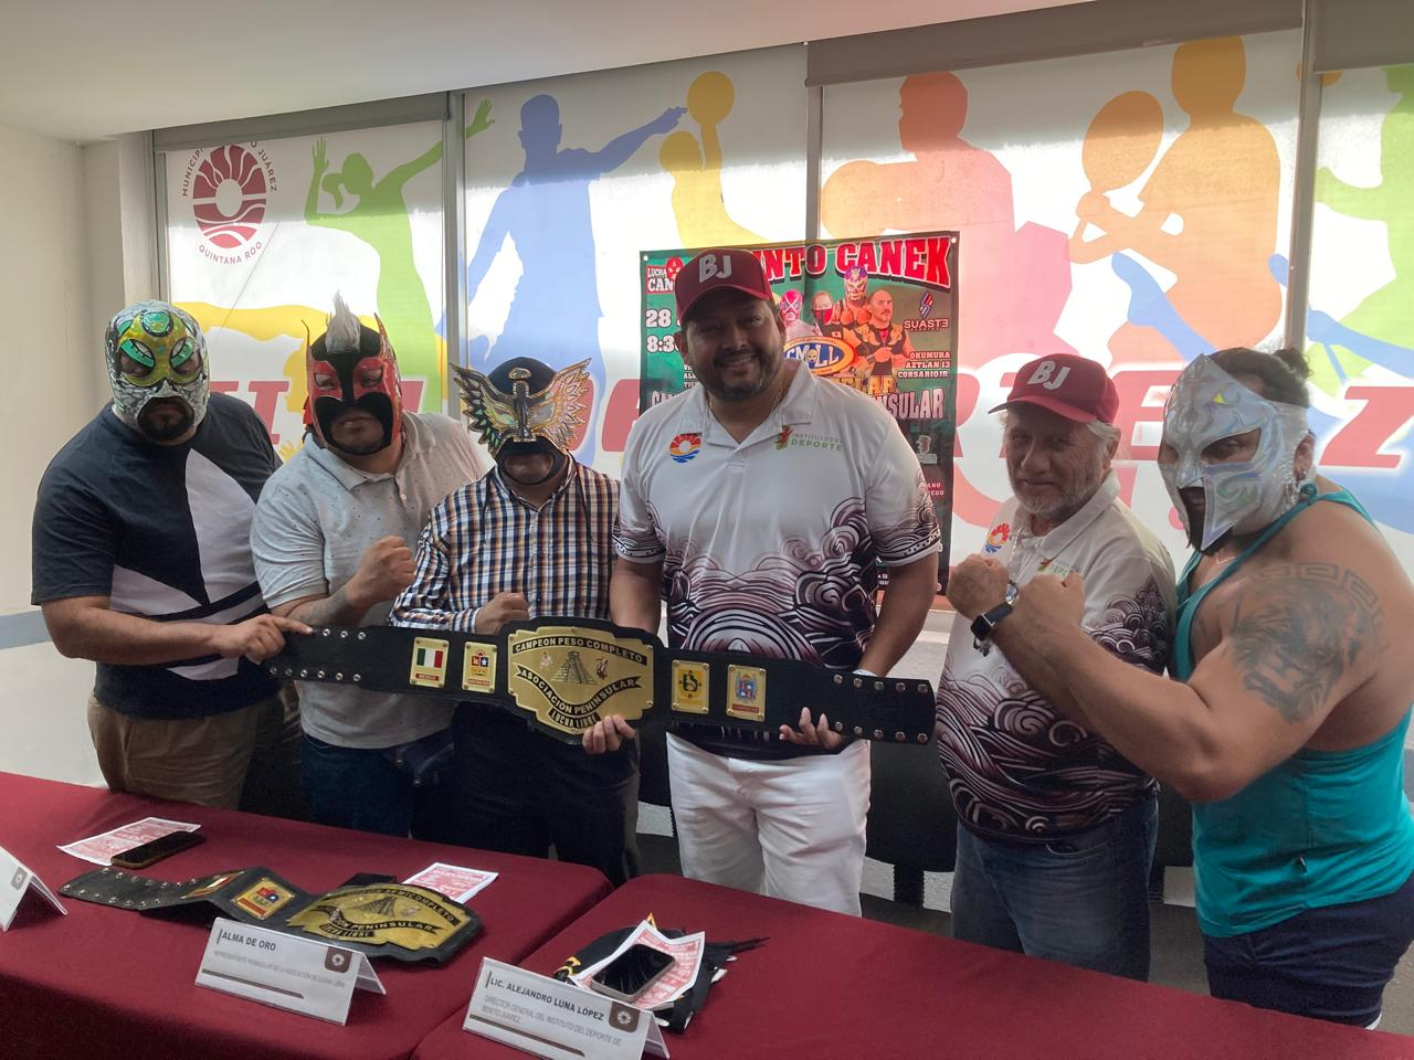
[[[1157,786],[1070,719],[1059,681],[1021,678],[1051,671],[1005,620],[1018,585],[1079,571],[1090,636],[1152,673],[1168,663],[1174,564],[1118,497],[1118,406],[1100,365],[1056,353],[1022,365],[991,410],[1014,496],[949,579],[937,746],[962,825],[953,936],[1144,979]]]

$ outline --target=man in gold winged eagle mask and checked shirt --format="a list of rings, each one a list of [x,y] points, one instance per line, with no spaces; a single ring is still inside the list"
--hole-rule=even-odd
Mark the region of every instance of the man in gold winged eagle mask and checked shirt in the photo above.
[[[570,451],[584,424],[585,365],[516,358],[489,376],[457,369],[471,425],[496,466],[433,510],[404,626],[496,633],[542,615],[607,619],[618,483]],[[594,865],[615,883],[638,868],[638,749],[590,758],[493,707],[462,704],[455,731],[455,840]]]

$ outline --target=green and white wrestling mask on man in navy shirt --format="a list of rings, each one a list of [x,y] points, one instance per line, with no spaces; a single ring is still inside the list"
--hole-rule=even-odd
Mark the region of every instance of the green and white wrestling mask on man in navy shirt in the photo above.
[[[156,442],[182,437],[206,414],[206,338],[189,314],[137,302],[109,321],[107,375],[117,417]]]

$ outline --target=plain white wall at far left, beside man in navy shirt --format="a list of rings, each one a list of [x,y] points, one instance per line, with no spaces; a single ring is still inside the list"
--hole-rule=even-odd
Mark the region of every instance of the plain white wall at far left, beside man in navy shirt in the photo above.
[[[123,298],[120,147],[81,148],[0,127],[0,229],[8,245],[0,291],[10,363],[0,386],[0,492],[7,497],[0,554],[8,557],[0,564],[0,770],[86,783],[99,779],[85,722],[93,664],[64,659],[40,639],[30,606],[30,520],[49,459],[107,396],[92,293]],[[100,164],[90,174],[95,160]]]

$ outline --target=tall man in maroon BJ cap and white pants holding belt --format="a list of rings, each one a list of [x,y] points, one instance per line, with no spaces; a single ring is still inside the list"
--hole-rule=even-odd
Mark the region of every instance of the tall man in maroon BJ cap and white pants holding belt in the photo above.
[[[937,520],[904,432],[870,399],[785,358],[752,253],[699,254],[676,295],[699,386],[629,432],[614,620],[656,630],[666,598],[674,649],[887,674],[937,591]],[[858,914],[870,752],[797,705],[799,729],[669,734],[683,873]],[[608,718],[584,743],[612,750],[631,736]]]

